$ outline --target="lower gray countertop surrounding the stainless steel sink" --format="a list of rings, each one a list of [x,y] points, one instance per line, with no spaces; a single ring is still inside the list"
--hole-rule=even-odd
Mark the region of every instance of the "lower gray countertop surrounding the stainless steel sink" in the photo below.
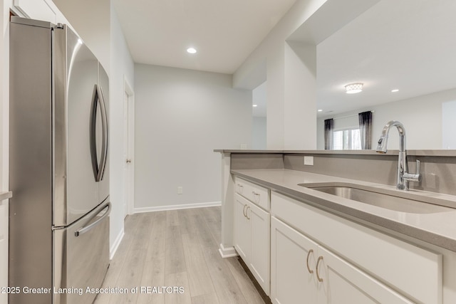
[[[378,225],[456,251],[456,196],[418,190],[404,192],[384,184],[289,169],[238,169],[231,172],[239,177],[264,185],[272,191],[291,196],[353,221]],[[397,196],[420,199],[436,205],[432,205],[432,212],[430,213],[393,211],[299,186],[303,183],[328,182],[356,184],[360,188],[375,189],[375,192],[397,194]],[[417,204],[419,203],[417,202]]]

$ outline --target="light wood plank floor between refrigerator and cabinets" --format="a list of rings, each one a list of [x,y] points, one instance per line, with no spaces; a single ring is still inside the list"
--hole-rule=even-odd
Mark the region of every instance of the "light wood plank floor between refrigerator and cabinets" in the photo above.
[[[105,303],[264,303],[237,258],[219,255],[220,207],[157,211],[125,219],[125,236],[103,288],[138,293],[99,294]],[[177,286],[183,293],[141,293]]]

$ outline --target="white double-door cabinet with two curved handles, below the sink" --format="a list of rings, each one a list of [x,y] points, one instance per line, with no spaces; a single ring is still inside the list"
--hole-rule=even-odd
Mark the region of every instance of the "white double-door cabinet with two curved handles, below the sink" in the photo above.
[[[271,218],[271,301],[413,303],[274,217]]]

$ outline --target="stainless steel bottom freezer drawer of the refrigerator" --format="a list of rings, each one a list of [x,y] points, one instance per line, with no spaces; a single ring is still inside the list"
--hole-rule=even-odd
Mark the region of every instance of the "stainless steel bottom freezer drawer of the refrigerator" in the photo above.
[[[53,304],[95,299],[87,288],[100,288],[108,271],[109,213],[110,203],[102,204],[68,228],[54,231]]]

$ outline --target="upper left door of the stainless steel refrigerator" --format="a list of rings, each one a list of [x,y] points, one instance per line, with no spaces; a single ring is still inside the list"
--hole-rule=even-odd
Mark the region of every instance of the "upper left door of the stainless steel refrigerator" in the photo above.
[[[98,61],[70,28],[54,30],[55,189],[53,226],[67,226],[100,204],[90,120]]]

